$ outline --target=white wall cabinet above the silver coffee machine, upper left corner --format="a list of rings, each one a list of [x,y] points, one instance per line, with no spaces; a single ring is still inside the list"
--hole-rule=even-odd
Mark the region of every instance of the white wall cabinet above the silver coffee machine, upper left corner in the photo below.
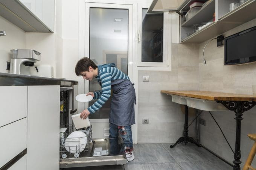
[[[0,0],[0,15],[26,32],[54,32],[54,0]]]

